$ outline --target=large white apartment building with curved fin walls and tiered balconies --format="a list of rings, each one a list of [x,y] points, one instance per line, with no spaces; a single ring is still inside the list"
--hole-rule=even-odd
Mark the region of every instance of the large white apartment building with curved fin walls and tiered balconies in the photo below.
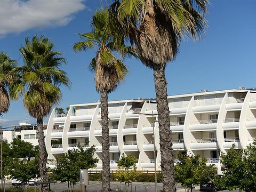
[[[256,91],[240,89],[172,95],[168,97],[174,154],[207,158],[220,171],[219,158],[235,144],[245,149],[256,138]],[[46,132],[49,159],[69,149],[95,145],[102,169],[100,103],[70,105],[67,115],[55,116],[53,109]],[[139,111],[143,114],[134,114]],[[161,170],[156,103],[149,99],[109,102],[110,168],[122,154],[133,155],[138,170],[154,170],[154,142],[157,169]],[[153,137],[153,127],[155,135]],[[52,145],[59,140],[58,145]],[[177,163],[177,159],[174,162]],[[53,165],[54,163],[52,163]]]

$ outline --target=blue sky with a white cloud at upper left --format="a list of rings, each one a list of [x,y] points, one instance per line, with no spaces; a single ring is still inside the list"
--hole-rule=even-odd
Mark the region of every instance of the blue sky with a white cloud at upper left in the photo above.
[[[54,2],[55,5],[46,0],[4,1],[6,5],[0,7],[0,20],[4,21],[0,23],[0,50],[22,65],[18,49],[24,44],[25,37],[44,34],[51,38],[55,49],[61,51],[68,61],[63,70],[67,71],[72,86],[71,89],[62,87],[63,99],[59,107],[95,102],[100,96],[95,91],[93,73],[87,70],[95,51],[74,53],[73,44],[79,41],[77,33],[90,31],[93,11],[106,0]],[[198,42],[185,39],[178,57],[167,65],[169,95],[204,89],[256,87],[256,1],[212,0],[211,4],[207,14],[209,28],[204,39]],[[153,71],[139,60],[126,59],[125,64],[130,74],[115,92],[109,94],[109,100],[155,98]],[[9,112],[0,122],[6,127],[36,121],[23,108],[20,99],[11,102]],[[47,122],[47,117],[44,122]]]

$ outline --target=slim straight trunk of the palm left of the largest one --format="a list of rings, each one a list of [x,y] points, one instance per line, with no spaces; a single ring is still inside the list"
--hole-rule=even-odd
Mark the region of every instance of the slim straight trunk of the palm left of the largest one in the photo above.
[[[100,92],[101,126],[102,126],[102,189],[110,191],[109,166],[109,128],[108,128],[108,93]]]

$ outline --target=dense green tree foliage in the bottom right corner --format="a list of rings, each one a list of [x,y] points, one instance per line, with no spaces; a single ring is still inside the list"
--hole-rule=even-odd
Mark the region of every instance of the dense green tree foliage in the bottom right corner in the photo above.
[[[256,142],[245,150],[233,146],[221,155],[223,177],[214,183],[218,188],[255,191],[256,186]]]

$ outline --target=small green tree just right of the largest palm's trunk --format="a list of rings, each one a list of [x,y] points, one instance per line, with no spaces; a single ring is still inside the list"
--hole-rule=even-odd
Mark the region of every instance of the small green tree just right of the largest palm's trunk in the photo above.
[[[200,160],[200,156],[178,155],[179,162],[175,166],[174,174],[176,182],[180,182],[183,188],[190,188],[192,191],[194,186],[211,180],[212,175],[217,173],[215,165],[206,165],[206,158]]]

